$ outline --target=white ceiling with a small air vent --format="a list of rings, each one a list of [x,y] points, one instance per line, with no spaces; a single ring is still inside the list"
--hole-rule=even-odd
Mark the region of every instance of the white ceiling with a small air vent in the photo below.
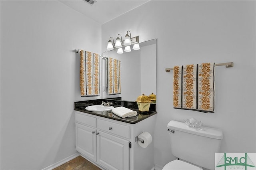
[[[99,24],[104,24],[149,0],[96,0],[92,5],[86,0],[59,1]]]

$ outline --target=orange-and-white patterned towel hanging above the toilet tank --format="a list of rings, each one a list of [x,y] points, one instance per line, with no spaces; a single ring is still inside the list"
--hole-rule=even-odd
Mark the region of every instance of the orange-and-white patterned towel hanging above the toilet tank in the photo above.
[[[175,66],[173,74],[175,109],[214,112],[215,63]]]

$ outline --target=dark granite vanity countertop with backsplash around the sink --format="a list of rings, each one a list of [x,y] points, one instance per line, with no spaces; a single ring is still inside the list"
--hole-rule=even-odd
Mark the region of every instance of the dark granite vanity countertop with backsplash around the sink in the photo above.
[[[119,106],[124,106],[124,107],[127,107],[127,106],[130,106],[130,107],[127,107],[131,110],[134,110],[134,111],[137,111],[137,116],[134,116],[134,117],[127,117],[127,118],[122,118],[122,117],[119,117],[117,115],[115,115],[114,113],[112,113],[111,111],[100,111],[100,112],[94,112],[94,111],[86,111],[86,107],[87,106],[90,106],[90,105],[100,105],[101,104],[101,101],[108,101],[108,102],[112,102],[114,103],[112,106],[114,107],[119,107]],[[97,99],[97,100],[90,100],[90,101],[80,101],[80,102],[75,102],[75,108],[74,110],[75,111],[80,111],[80,112],[84,112],[84,113],[88,113],[88,114],[91,114],[91,115],[96,115],[96,116],[100,116],[100,117],[105,117],[105,118],[108,118],[108,119],[114,119],[116,121],[122,121],[122,122],[126,122],[126,123],[131,123],[131,124],[135,124],[135,123],[138,123],[148,117],[151,117],[152,115],[155,115],[157,112],[156,111],[151,111],[152,109],[150,109],[150,111],[148,112],[140,112],[138,110],[138,106],[137,106],[137,103],[136,102],[129,102],[129,101],[116,101],[116,102],[120,102],[120,103],[123,103],[121,105],[115,105],[115,100],[106,100],[106,99]],[[127,103],[128,102],[128,103]],[[118,103],[118,104],[120,104]],[[136,103],[136,105],[134,105],[134,103]],[[127,105],[127,106],[125,106]],[[132,108],[132,107],[136,107],[137,106],[137,109],[135,108]],[[152,107],[153,109],[155,109],[155,106]]]

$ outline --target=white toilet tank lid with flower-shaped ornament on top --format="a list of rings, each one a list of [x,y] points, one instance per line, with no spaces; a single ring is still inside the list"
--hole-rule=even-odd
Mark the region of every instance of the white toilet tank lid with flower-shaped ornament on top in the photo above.
[[[172,130],[179,130],[182,132],[187,132],[187,133],[196,134],[199,136],[205,136],[205,137],[214,138],[214,139],[223,138],[222,130],[218,128],[210,128],[210,127],[204,127],[204,126],[201,126],[199,128],[193,128],[186,125],[186,123],[178,122],[178,121],[170,121],[167,127]]]

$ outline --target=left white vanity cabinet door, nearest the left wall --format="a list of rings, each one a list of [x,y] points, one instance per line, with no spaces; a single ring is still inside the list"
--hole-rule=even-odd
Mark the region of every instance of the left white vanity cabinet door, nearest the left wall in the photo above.
[[[76,150],[96,161],[96,129],[76,123]]]

